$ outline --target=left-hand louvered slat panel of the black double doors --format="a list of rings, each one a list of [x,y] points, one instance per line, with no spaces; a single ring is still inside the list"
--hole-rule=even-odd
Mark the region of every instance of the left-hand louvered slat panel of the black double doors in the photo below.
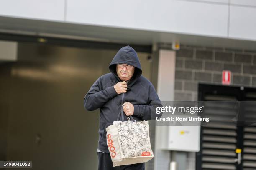
[[[235,100],[229,96],[207,95],[206,100]],[[204,117],[209,125],[202,131],[202,170],[236,170],[236,117],[234,102],[205,102]]]

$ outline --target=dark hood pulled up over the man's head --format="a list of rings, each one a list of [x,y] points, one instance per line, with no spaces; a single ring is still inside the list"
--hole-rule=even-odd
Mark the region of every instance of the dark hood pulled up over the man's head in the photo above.
[[[142,70],[141,70],[141,63],[140,60],[138,59],[138,55],[136,51],[130,47],[129,45],[122,47],[115,55],[113,60],[111,61],[109,65],[109,70],[112,72],[113,75],[117,78],[119,82],[120,78],[118,77],[116,73],[116,65],[117,64],[127,64],[127,65],[133,65],[135,67],[133,77],[131,77],[130,80],[128,80],[127,83],[127,89],[129,90],[129,87],[133,85],[134,82],[141,76]]]

